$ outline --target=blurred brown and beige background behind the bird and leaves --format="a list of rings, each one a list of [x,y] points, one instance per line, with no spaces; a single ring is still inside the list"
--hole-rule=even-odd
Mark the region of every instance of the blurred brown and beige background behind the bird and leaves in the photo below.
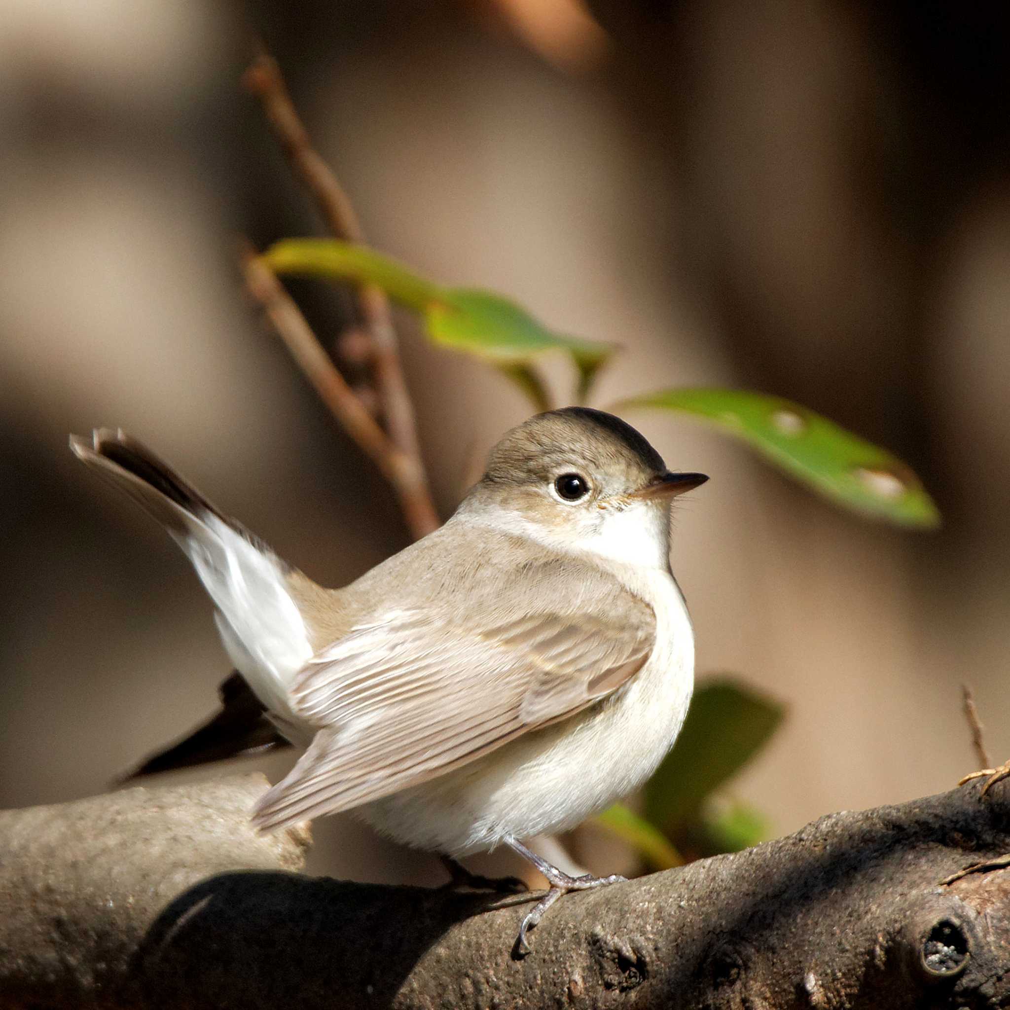
[[[597,405],[777,393],[933,493],[938,532],[869,524],[686,421],[629,416],[713,477],[674,545],[699,672],[789,705],[737,795],[788,832],[949,788],[975,764],[963,681],[1010,755],[1005,7],[0,0],[0,806],[108,788],[228,669],[182,556],[68,432],[142,437],[324,584],[407,542],[241,288],[239,236],[319,231],[238,87],[257,36],[374,244],[624,345]],[[349,300],[297,292],[335,333]],[[448,514],[527,407],[400,322]],[[350,818],[315,833],[317,869],[440,879]],[[570,842],[616,869],[591,832]]]

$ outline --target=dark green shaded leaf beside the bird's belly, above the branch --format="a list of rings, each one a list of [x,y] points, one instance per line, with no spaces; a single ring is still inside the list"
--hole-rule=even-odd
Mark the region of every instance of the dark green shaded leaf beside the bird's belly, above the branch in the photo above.
[[[785,709],[732,680],[695,691],[673,750],[645,786],[645,816],[671,825],[694,814],[771,738]]]

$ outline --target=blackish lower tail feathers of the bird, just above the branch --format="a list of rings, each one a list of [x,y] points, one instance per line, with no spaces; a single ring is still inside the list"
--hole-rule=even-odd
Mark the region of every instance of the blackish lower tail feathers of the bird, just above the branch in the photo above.
[[[266,710],[241,674],[232,673],[218,688],[218,694],[221,711],[217,715],[178,743],[152,754],[119,783],[291,745],[267,718]]]

